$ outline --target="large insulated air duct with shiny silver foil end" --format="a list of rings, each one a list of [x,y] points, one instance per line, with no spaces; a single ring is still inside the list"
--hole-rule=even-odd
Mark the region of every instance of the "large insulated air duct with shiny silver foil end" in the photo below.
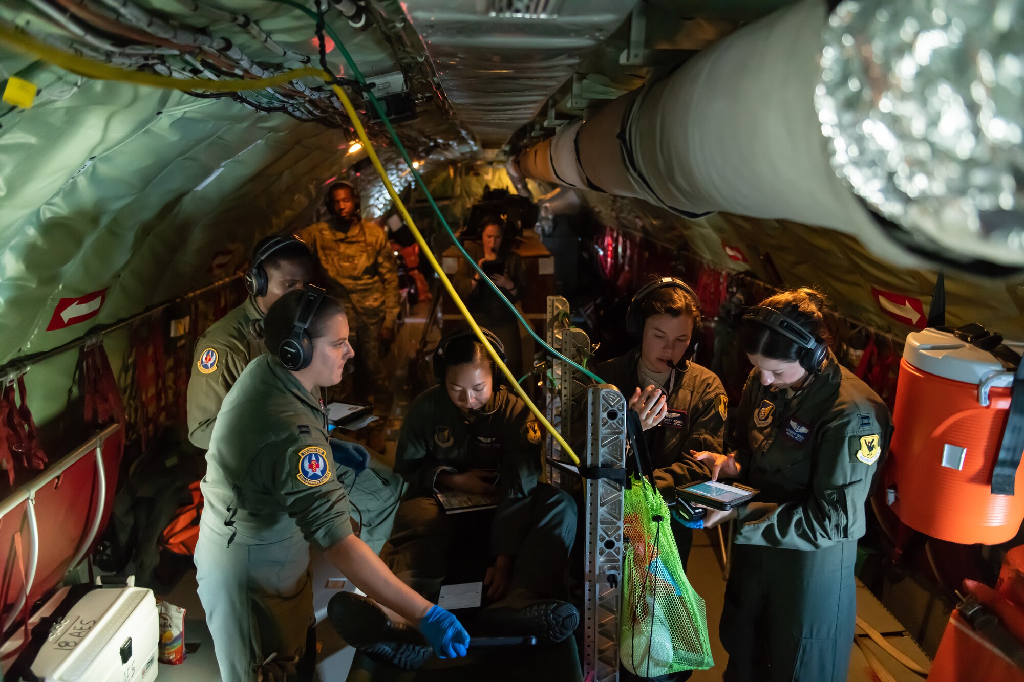
[[[950,0],[946,14],[862,0],[829,14],[802,0],[516,161],[529,177],[686,217],[850,232],[903,266],[1014,272],[1024,24],[995,4]]]

